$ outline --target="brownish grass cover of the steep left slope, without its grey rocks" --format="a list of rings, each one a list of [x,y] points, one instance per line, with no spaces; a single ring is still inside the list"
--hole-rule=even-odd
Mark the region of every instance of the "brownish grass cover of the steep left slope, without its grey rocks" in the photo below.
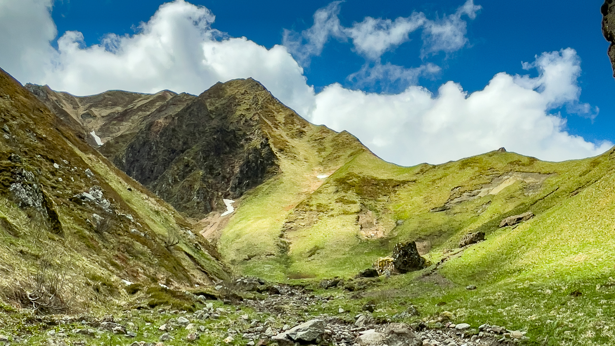
[[[65,294],[72,297],[76,310],[133,300],[121,279],[180,289],[226,277],[224,266],[208,252],[208,244],[187,236],[189,224],[172,207],[79,140],[4,71],[0,71],[0,116],[2,126],[9,129],[9,138],[0,139],[0,217],[6,218],[0,227],[3,299],[11,299],[15,283],[28,281],[40,269],[41,260],[52,264],[49,275],[65,276]],[[9,161],[12,153],[22,162]],[[19,168],[35,173],[62,223],[62,234],[49,231],[36,211],[22,209],[10,199],[12,172]],[[88,177],[85,169],[94,176]],[[72,199],[93,185],[103,189],[117,212],[132,214],[134,222],[103,214],[113,219],[111,227],[103,233],[93,230],[86,219],[101,212]],[[133,228],[146,236],[133,234]],[[180,240],[171,252],[164,247],[169,233]]]

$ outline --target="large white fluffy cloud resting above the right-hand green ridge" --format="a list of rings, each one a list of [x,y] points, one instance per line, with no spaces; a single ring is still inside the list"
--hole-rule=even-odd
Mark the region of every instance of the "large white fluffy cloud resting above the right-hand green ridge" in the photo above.
[[[432,95],[423,87],[382,95],[333,84],[316,96],[311,120],[359,137],[381,158],[402,165],[443,163],[499,147],[550,161],[584,158],[608,150],[565,131],[549,114],[578,103],[579,58],[573,49],[544,53],[539,76],[498,73],[482,91],[467,94],[446,82]]]

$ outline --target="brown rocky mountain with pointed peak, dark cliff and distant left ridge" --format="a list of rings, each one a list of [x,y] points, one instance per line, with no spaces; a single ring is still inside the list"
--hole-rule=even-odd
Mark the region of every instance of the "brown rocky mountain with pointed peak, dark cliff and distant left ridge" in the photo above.
[[[282,161],[306,156],[305,146],[315,153],[310,161],[324,160],[320,166],[327,169],[352,155],[339,151],[321,158],[323,141],[336,137],[339,148],[366,150],[352,135],[340,137],[308,123],[253,79],[218,83],[198,97],[169,91],[74,97],[46,86],[26,87],[69,126],[97,131],[103,155],[197,219],[224,211],[224,198],[237,199],[274,177]]]

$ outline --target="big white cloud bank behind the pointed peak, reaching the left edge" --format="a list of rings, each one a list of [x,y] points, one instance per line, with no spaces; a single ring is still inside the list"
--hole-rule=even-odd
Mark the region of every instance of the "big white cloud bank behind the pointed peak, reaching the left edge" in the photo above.
[[[39,23],[41,28],[34,28],[47,33],[39,34],[36,40],[23,37],[33,36],[24,33],[22,39],[3,46],[15,47],[18,52],[3,49],[0,61],[7,61],[2,66],[21,81],[49,84],[55,90],[77,95],[108,89],[170,89],[200,94],[218,81],[251,76],[301,114],[309,113],[313,107],[314,91],[285,47],[268,50],[246,38],[221,39],[223,35],[211,27],[215,17],[205,7],[183,0],[168,2],[147,23],[141,23],[138,34],[108,34],[101,44],[84,47],[83,35],[68,31],[58,39],[58,50],[54,50],[49,45],[55,36],[55,25],[48,5],[37,0],[0,0],[0,9],[17,7],[12,12],[0,11],[0,25],[7,23],[12,13],[22,13],[20,20]],[[15,23],[15,32],[22,27]],[[2,30],[0,38],[4,39],[10,36],[5,33],[12,32]],[[23,55],[31,59],[23,60]]]

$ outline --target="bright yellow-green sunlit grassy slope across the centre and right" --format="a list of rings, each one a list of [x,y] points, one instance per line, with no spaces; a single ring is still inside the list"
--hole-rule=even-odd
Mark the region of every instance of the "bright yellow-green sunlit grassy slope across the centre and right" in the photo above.
[[[315,190],[307,186],[317,162],[283,160],[279,177],[242,199],[224,230],[223,254],[244,273],[276,280],[351,277],[389,254],[397,241],[431,243],[426,257],[437,262],[463,235],[482,230],[486,241],[448,260],[439,270],[445,276],[440,282],[421,278],[424,272],[399,275],[367,296],[386,296],[381,312],[390,314],[402,312],[411,300],[423,316],[450,310],[456,321],[475,327],[489,321],[526,329],[536,344],[612,340],[613,151],[563,163],[493,151],[415,167],[385,163],[367,151],[347,158]],[[509,172],[540,174],[544,180],[506,183],[493,190],[497,193],[430,212]],[[386,226],[383,238],[360,235],[357,217],[365,210]],[[499,228],[504,217],[525,211],[536,217]],[[301,225],[296,215],[317,217]],[[295,223],[288,228],[285,222]],[[288,241],[287,252],[276,247],[280,235]],[[467,291],[470,284],[478,289]],[[569,295],[575,290],[582,296]]]

